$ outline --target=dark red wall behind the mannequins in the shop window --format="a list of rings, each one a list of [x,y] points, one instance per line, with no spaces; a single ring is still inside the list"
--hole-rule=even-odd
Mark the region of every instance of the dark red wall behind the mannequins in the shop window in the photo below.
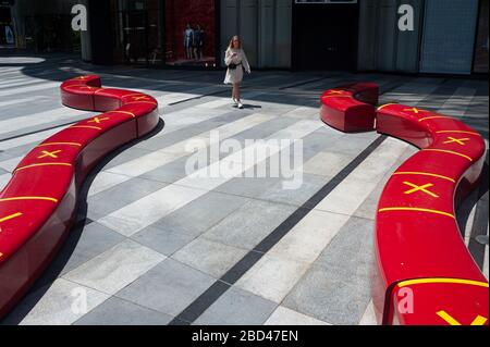
[[[174,59],[185,59],[184,30],[186,25],[195,29],[199,24],[205,30],[205,57],[215,57],[216,27],[215,0],[167,0],[166,39],[167,51],[173,51]]]

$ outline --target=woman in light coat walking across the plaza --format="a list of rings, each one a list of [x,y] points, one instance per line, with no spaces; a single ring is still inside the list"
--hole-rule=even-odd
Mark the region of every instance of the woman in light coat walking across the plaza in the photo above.
[[[224,54],[224,63],[228,66],[224,83],[233,85],[233,102],[238,107],[238,109],[243,109],[243,103],[240,99],[240,84],[243,79],[243,72],[246,71],[247,73],[250,73],[252,71],[247,57],[242,49],[242,42],[240,41],[238,36],[233,36],[231,39]]]

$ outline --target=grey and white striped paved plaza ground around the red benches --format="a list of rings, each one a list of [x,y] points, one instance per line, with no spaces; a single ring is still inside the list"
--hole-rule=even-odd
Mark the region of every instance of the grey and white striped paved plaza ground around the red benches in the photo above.
[[[91,114],[62,107],[58,92],[60,80],[86,73],[156,97],[162,122],[88,178],[69,240],[3,324],[372,324],[376,205],[390,174],[417,149],[326,126],[319,95],[376,82],[381,102],[438,110],[488,139],[487,80],[254,72],[244,83],[246,108],[237,110],[223,72],[0,55],[0,188],[37,142]],[[241,165],[237,153],[250,139],[301,142],[303,164],[293,172],[301,184],[284,189],[290,178],[253,174],[270,173],[295,142],[243,166],[241,176],[192,179],[189,144],[210,154],[229,139],[237,146],[208,164]],[[488,185],[465,201],[458,222],[488,275]],[[79,297],[86,312],[73,310]]]

